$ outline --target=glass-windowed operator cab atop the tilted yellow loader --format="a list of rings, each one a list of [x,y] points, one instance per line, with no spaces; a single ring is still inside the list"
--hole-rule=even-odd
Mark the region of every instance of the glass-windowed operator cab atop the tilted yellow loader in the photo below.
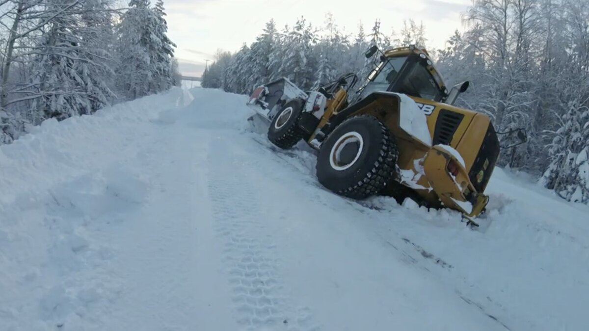
[[[448,96],[444,81],[429,56],[415,47],[382,53],[379,64],[368,75],[355,101],[376,91],[398,92],[436,102]]]

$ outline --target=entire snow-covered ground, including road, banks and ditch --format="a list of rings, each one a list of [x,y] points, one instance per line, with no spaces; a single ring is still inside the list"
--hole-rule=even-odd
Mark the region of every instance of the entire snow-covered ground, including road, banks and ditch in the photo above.
[[[0,329],[589,330],[589,207],[501,169],[479,230],[339,197],[246,101],[172,90],[0,147]]]

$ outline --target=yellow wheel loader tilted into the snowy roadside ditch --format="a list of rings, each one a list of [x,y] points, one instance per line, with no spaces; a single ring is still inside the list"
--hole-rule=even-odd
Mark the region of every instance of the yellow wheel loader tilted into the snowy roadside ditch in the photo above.
[[[256,88],[247,105],[269,123],[274,145],[304,140],[315,148],[317,179],[336,194],[410,197],[476,225],[499,156],[491,120],[453,105],[469,83],[448,91],[425,49],[371,47],[366,58],[376,52],[378,64],[355,95],[355,74],[313,91],[282,78]]]

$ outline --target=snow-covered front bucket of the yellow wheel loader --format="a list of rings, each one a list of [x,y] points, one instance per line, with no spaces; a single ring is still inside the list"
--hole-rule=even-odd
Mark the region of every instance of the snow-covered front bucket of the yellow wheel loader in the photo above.
[[[294,98],[306,100],[307,94],[287,78],[280,78],[255,88],[246,105],[269,124],[280,108]]]

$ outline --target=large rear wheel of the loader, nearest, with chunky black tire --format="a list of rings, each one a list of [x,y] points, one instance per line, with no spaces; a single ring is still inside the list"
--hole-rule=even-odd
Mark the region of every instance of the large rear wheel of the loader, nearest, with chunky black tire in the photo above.
[[[362,143],[356,143],[358,148],[352,145],[355,138],[348,138],[350,135],[361,137]],[[352,147],[346,151],[349,145]],[[342,160],[337,157],[331,160],[336,154]],[[337,126],[321,145],[317,155],[317,179],[341,196],[359,200],[367,198],[395,180],[398,154],[395,137],[377,118],[369,115],[352,117]]]

